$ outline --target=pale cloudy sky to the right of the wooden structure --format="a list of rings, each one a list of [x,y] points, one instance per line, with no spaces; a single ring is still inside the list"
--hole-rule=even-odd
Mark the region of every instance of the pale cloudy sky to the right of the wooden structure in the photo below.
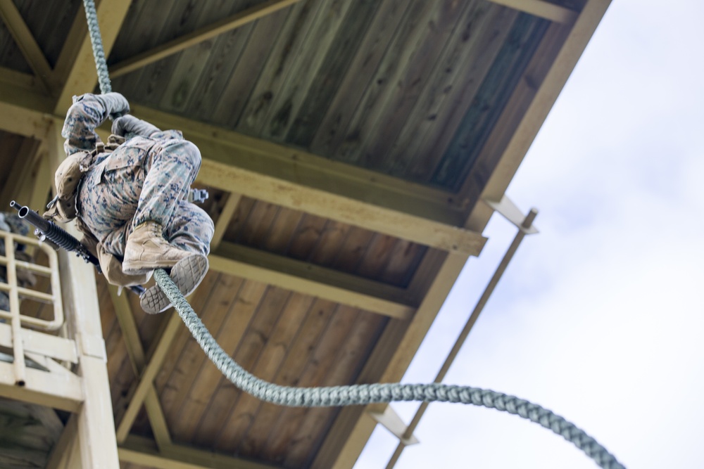
[[[704,467],[704,2],[614,0],[507,195],[539,210],[445,383],[513,394],[627,468]],[[515,236],[495,214],[403,378],[434,379]],[[394,403],[407,423],[417,403]],[[431,404],[396,468],[596,468],[491,409]],[[356,468],[385,468],[377,425]]]

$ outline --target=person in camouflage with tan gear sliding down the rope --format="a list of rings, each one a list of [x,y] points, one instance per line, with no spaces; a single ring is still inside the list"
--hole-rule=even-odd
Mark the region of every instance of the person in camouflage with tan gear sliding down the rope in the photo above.
[[[162,268],[190,295],[208,271],[214,232],[208,214],[187,200],[201,154],[180,131],[162,131],[129,112],[119,93],[73,98],[61,131],[67,158],[44,217],[75,219],[109,283],[140,285]],[[112,135],[103,143],[95,129],[109,116]],[[150,314],[171,306],[157,285],[139,302]]]

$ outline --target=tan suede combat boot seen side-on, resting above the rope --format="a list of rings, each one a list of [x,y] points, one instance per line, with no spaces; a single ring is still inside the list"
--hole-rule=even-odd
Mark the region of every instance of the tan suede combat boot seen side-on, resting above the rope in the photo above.
[[[176,248],[163,238],[161,225],[145,221],[127,238],[122,271],[128,275],[146,274],[158,268],[168,269],[184,257],[193,255]]]

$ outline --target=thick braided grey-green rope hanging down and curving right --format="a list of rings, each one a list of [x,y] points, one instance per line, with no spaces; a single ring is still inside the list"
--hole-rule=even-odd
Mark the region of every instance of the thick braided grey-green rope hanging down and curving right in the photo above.
[[[93,0],[83,0],[88,21],[93,56],[98,71],[98,81],[101,93],[112,91],[105,53],[98,27],[98,18]],[[497,409],[521,416],[539,423],[545,428],[561,435],[572,442],[577,448],[592,458],[605,469],[625,469],[612,454],[610,454],[595,439],[580,430],[565,418],[543,409],[515,396],[483,390],[478,387],[454,386],[443,384],[406,385],[401,383],[384,383],[372,385],[349,385],[332,387],[290,387],[260,380],[239,366],[225,350],[218,345],[191,305],[183,297],[170,276],[163,269],[154,271],[154,278],[159,288],[163,290],[174,305],[184,324],[191,331],[203,352],[213,361],[213,364],[235,386],[253,397],[282,406],[298,407],[329,407],[365,405],[391,401],[438,401],[472,404]]]

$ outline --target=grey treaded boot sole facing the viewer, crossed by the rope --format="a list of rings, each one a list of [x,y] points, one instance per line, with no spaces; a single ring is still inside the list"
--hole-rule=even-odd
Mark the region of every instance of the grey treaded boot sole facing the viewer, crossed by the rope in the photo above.
[[[171,269],[171,279],[179,291],[187,297],[198,288],[208,272],[208,258],[201,254],[184,257]],[[148,314],[158,314],[171,307],[171,302],[159,285],[148,288],[141,297],[139,304]]]

